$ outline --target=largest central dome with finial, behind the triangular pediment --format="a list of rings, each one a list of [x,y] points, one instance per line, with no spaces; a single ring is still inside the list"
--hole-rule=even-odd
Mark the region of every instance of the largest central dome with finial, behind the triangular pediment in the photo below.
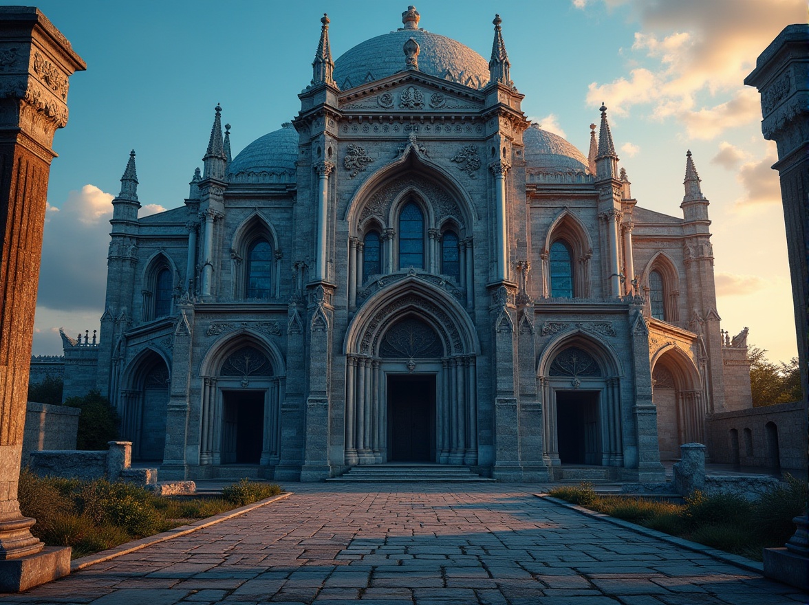
[[[489,62],[481,55],[457,40],[417,29],[418,12],[412,6],[402,21],[404,28],[357,44],[334,61],[334,82],[341,90],[406,70],[403,49],[409,38],[419,46],[419,71],[472,88],[489,83]]]

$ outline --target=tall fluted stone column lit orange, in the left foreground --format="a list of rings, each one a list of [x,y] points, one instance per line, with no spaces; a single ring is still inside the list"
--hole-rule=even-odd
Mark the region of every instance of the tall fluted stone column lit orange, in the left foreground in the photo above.
[[[53,133],[68,78],[86,69],[36,8],[0,7],[0,592],[70,573],[70,548],[44,548],[17,501],[28,369]]]

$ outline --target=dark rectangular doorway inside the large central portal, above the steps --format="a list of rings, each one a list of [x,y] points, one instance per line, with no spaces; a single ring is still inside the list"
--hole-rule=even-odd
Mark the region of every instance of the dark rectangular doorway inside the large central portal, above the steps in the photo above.
[[[435,377],[388,375],[388,461],[435,460]]]

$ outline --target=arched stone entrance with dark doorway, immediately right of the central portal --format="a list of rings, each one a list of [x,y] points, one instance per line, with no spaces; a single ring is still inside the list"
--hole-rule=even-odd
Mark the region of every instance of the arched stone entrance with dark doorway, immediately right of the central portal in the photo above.
[[[543,457],[561,464],[624,465],[616,364],[587,336],[562,336],[540,360]]]

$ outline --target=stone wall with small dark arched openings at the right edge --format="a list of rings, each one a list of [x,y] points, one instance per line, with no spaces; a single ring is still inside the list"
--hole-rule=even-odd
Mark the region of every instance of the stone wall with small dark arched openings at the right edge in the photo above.
[[[707,429],[711,462],[807,472],[803,402],[716,413]]]

